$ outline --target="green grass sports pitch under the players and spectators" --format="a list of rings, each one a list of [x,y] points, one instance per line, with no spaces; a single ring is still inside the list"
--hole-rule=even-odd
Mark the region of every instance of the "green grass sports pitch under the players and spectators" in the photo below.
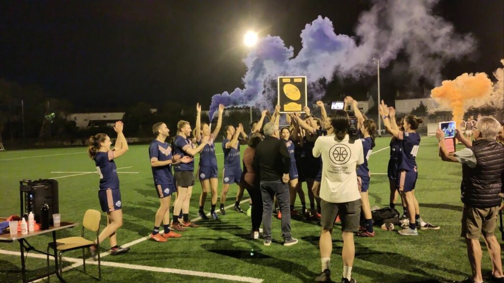
[[[376,148],[369,159],[372,174],[369,189],[371,206],[384,207],[389,204],[389,183],[385,174],[389,141],[389,137],[377,138]],[[216,149],[218,164],[222,168],[220,145]],[[380,151],[381,149],[385,150]],[[19,214],[20,179],[58,178],[62,221],[82,223],[86,209],[100,210],[97,197],[98,175],[94,162],[85,152],[85,148],[0,152],[1,216]],[[383,230],[376,230],[374,238],[356,237],[356,259],[352,276],[358,282],[449,282],[470,274],[465,243],[459,237],[461,166],[440,161],[436,139],[433,137],[422,139],[417,162],[419,177],[416,197],[420,202],[421,216],[425,221],[439,225],[441,229],[419,230],[417,237],[403,237]],[[130,151],[117,159],[116,164],[117,168],[123,168],[118,172],[124,172],[119,173],[124,225],[118,231],[117,239],[120,244],[126,244],[149,235],[159,201],[149,166],[148,145],[130,147]],[[219,183],[219,192],[220,188]],[[233,204],[236,189],[235,185],[231,186],[226,205]],[[306,190],[305,185],[304,189]],[[200,192],[201,186],[197,182],[191,201],[191,219],[197,217]],[[246,198],[245,192],[244,199]],[[243,203],[241,207],[246,209],[248,204]],[[296,207],[300,208],[299,202]],[[206,209],[209,208],[210,197],[206,204]],[[219,221],[198,223],[201,224],[200,228],[188,229],[181,238],[169,239],[166,243],[137,241],[127,254],[102,257],[103,281],[309,282],[320,272],[317,248],[320,227],[316,222],[293,220],[292,235],[299,243],[291,247],[280,244],[280,221],[276,219],[273,219],[274,242],[270,247],[263,246],[261,239],[249,240],[250,219],[232,209],[228,209],[228,214],[221,216]],[[339,281],[342,271],[339,227],[335,227],[335,232],[332,279]],[[500,237],[500,233],[496,233]],[[61,231],[58,237],[79,234],[80,226]],[[49,241],[49,236],[30,238],[30,242],[42,250],[45,250]],[[104,242],[103,246],[108,249],[108,242]],[[20,258],[12,252],[19,252],[17,242],[0,243],[0,282],[21,281]],[[82,252],[69,252],[66,256],[75,261],[82,257]],[[65,266],[73,263],[65,262]],[[486,248],[482,265],[486,270],[491,267]],[[45,257],[29,257],[27,266],[29,276],[43,272]],[[87,267],[89,274],[97,275],[97,265],[87,264]],[[64,277],[69,282],[95,281],[83,274],[82,266],[67,270]],[[57,279],[53,277],[52,281],[54,280]]]

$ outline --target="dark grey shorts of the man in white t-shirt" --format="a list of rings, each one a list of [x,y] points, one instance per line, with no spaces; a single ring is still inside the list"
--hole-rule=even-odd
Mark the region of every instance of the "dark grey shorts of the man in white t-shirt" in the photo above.
[[[336,217],[341,219],[341,231],[358,232],[360,227],[360,207],[361,200],[357,199],[350,202],[334,203],[321,200],[321,221],[320,225],[325,230],[331,230],[334,226]]]

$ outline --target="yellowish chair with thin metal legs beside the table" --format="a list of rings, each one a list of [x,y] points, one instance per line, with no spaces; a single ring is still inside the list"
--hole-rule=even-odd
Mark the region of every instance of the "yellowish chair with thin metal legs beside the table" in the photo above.
[[[77,249],[82,249],[82,262],[84,267],[84,273],[86,273],[86,258],[85,249],[94,245],[93,241],[84,238],[84,228],[96,232],[96,251],[98,253],[98,278],[101,280],[101,259],[100,259],[100,241],[98,235],[100,234],[100,221],[101,214],[100,211],[95,209],[88,209],[86,214],[84,214],[84,220],[82,221],[82,232],[81,237],[68,237],[56,240],[56,250],[59,251],[59,274],[62,276],[62,254],[66,251],[73,251]],[[49,249],[54,249],[54,245],[49,243],[47,245],[47,270],[49,271]],[[54,260],[58,260],[55,258]],[[49,281],[49,276],[47,277]]]

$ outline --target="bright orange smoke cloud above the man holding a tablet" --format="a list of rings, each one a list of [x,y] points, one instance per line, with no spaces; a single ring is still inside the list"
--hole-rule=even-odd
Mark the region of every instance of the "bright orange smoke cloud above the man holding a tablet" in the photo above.
[[[493,91],[493,84],[485,73],[465,73],[453,81],[443,81],[441,85],[431,91],[430,97],[439,104],[437,110],[451,110],[458,125],[465,111],[475,106],[471,102],[487,101]]]

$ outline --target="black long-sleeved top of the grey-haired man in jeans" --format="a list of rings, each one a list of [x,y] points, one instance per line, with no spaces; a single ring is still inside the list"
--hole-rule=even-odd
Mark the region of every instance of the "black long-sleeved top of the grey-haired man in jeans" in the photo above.
[[[278,181],[283,174],[289,174],[290,156],[285,143],[267,136],[256,147],[254,170],[259,172],[261,181]]]

